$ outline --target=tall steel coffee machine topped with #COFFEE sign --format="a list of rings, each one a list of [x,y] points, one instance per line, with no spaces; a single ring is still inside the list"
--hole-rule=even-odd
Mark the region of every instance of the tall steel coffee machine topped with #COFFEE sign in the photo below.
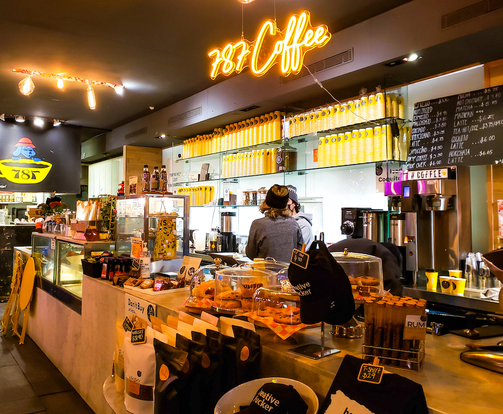
[[[471,251],[468,167],[409,170],[400,182],[386,183],[390,236],[406,249],[406,269],[459,269]]]

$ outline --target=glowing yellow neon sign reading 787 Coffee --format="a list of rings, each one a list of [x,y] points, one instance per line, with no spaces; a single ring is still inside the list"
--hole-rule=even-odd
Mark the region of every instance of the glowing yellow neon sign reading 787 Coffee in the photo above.
[[[219,73],[225,76],[232,72],[239,73],[245,67],[249,67],[256,76],[262,76],[276,63],[281,64],[284,76],[299,73],[305,53],[315,47],[323,47],[331,38],[325,25],[314,28],[310,19],[307,11],[294,15],[284,32],[278,30],[275,21],[268,20],[260,29],[255,42],[243,39],[229,43],[222,49],[212,50],[208,53],[213,58],[211,78],[215,79]],[[264,43],[274,42],[278,38],[280,40],[274,43],[274,47],[269,51],[265,50]]]

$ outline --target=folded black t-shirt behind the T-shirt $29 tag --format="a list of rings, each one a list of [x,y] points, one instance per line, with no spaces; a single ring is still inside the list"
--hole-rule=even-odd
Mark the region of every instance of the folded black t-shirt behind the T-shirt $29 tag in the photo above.
[[[358,381],[360,358],[346,355],[319,414],[428,414],[425,393],[397,374],[383,374],[380,384]]]

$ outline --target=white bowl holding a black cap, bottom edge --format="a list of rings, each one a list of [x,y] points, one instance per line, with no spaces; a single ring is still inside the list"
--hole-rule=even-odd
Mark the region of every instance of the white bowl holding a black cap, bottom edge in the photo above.
[[[239,411],[239,406],[249,405],[257,391],[267,382],[278,382],[280,384],[293,385],[300,396],[308,405],[307,414],[316,414],[319,408],[318,397],[315,392],[306,384],[289,378],[259,378],[245,382],[226,392],[218,400],[214,414],[233,414]]]

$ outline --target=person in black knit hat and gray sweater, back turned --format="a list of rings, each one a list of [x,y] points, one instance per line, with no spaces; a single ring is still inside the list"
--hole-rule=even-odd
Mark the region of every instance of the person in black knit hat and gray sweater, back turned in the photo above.
[[[246,245],[248,259],[272,257],[290,262],[293,249],[301,249],[302,231],[287,207],[288,188],[275,184],[259,209],[265,217],[251,223]]]

